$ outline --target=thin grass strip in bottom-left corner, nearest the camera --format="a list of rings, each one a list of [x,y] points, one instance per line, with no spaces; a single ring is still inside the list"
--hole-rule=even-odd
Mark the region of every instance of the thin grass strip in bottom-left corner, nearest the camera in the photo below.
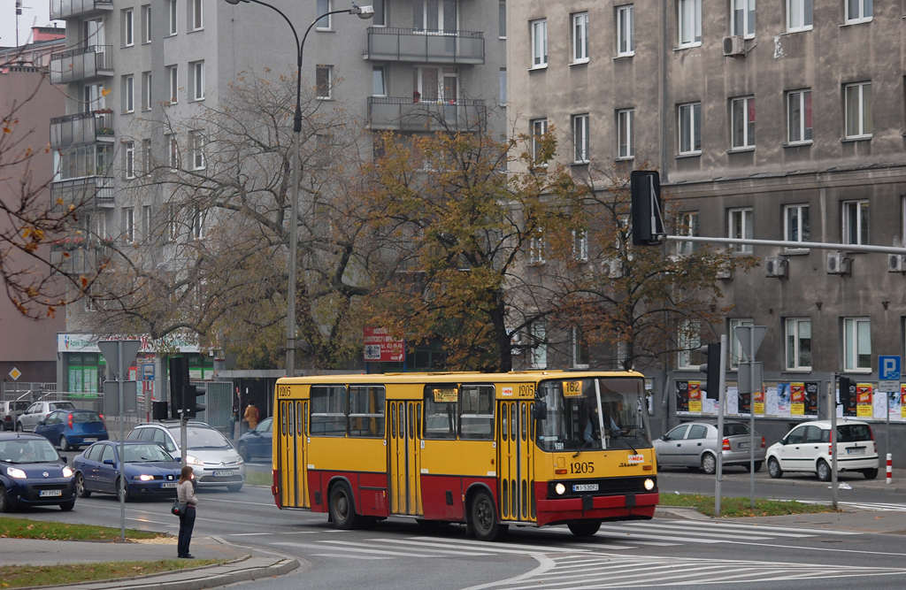
[[[159,561],[111,561],[99,564],[60,566],[0,566],[0,588],[33,585],[69,585],[95,580],[159,574],[187,567],[212,566],[217,559],[160,559]]]

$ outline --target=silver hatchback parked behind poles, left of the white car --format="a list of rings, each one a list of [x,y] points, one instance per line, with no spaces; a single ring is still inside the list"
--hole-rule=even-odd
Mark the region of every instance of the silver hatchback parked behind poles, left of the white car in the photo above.
[[[724,422],[724,435],[720,440],[724,467],[751,466],[752,443],[748,424]],[[755,433],[755,470],[765,461],[765,437]],[[718,427],[710,422],[686,422],[654,440],[654,454],[658,467],[688,467],[703,469],[713,474],[718,469]]]

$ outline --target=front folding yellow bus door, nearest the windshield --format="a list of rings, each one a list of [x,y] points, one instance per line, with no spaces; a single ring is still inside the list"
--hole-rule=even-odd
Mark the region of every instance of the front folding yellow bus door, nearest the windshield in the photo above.
[[[501,520],[535,520],[532,401],[501,401],[497,411],[497,479]]]

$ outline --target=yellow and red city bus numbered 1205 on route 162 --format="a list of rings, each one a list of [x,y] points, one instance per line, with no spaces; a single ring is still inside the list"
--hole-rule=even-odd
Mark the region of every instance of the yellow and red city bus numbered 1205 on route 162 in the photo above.
[[[591,536],[658,503],[638,372],[284,377],[275,396],[275,503],[339,528],[411,517],[482,540],[509,525]]]

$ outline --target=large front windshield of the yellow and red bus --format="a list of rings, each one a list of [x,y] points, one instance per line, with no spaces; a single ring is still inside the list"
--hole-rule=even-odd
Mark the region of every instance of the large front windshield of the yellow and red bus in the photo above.
[[[651,449],[641,379],[564,377],[541,382],[547,403],[537,422],[538,447],[547,451]]]

